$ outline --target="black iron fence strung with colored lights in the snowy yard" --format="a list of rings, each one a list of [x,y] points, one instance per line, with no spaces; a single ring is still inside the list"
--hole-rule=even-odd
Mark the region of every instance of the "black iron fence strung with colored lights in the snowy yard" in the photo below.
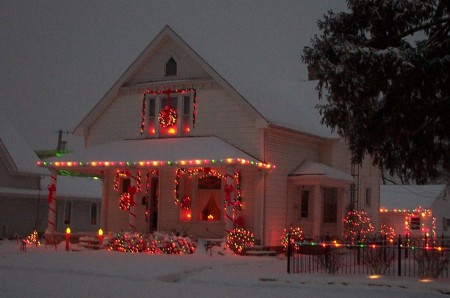
[[[428,239],[298,242],[287,248],[288,273],[330,273],[448,278],[450,248]]]

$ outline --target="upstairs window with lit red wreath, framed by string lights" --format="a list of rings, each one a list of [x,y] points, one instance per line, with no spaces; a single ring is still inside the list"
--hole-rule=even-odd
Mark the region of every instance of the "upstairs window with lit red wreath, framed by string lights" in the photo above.
[[[148,114],[146,119],[147,135],[149,137],[179,137],[189,135],[192,129],[193,93],[167,93],[146,95]],[[171,125],[163,125],[159,121],[159,115],[164,110],[166,115],[176,111],[175,120],[170,118]],[[166,120],[168,121],[168,120]]]

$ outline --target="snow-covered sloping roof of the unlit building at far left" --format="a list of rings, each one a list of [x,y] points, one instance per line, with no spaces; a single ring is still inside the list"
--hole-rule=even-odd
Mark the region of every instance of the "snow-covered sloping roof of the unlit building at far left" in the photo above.
[[[46,169],[36,167],[38,156],[17,129],[0,112],[0,148],[6,152],[15,173],[24,175],[49,175]]]

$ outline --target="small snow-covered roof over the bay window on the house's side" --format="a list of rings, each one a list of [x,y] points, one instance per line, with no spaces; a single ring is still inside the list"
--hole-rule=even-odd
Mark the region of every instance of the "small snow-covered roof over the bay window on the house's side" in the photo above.
[[[296,180],[302,178],[323,178],[345,183],[354,182],[352,175],[329,167],[325,164],[311,161],[305,161],[302,163],[297,169],[289,174],[289,178]]]

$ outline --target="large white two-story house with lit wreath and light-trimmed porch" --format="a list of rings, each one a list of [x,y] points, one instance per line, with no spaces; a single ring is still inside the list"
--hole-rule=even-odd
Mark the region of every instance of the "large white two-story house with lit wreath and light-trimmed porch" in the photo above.
[[[289,226],[339,237],[350,206],[378,224],[379,170],[352,166],[320,124],[317,82],[248,76],[254,61],[191,46],[166,26],[76,127],[86,149],[39,163],[56,197],[57,170],[100,174],[106,231],[221,238],[242,226],[270,246]]]

